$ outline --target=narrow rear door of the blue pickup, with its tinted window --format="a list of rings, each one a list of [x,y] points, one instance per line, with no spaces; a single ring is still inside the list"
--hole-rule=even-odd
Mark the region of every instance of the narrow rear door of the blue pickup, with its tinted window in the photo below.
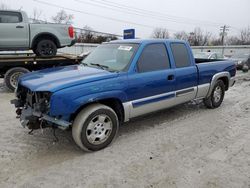
[[[170,43],[175,64],[176,104],[195,99],[198,84],[198,70],[192,61],[191,48],[182,42]]]

